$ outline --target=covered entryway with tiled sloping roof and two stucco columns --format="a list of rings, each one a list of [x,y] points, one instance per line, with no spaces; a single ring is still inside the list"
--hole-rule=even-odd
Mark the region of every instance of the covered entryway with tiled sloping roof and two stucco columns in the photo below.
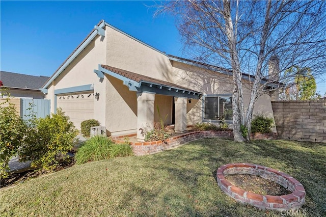
[[[144,141],[144,127],[153,129],[155,119],[159,119],[158,114],[155,114],[157,109],[155,104],[156,107],[159,107],[159,110],[164,110],[165,116],[171,114],[173,104],[175,104],[174,129],[175,132],[180,133],[186,131],[187,99],[199,99],[202,96],[202,93],[195,90],[112,66],[99,65],[98,70],[95,69],[94,72],[100,79],[104,78],[104,74],[118,78],[128,87],[129,91],[137,92],[138,141]],[[171,103],[172,97],[174,97],[174,103]],[[164,119],[165,117],[161,118]],[[168,122],[165,124],[171,123],[172,115],[166,121]]]

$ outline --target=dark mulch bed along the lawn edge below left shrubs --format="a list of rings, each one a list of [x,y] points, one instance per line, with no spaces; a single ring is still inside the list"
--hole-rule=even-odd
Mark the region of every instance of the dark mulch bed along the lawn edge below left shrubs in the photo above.
[[[55,171],[52,172],[57,172],[69,167],[72,167],[75,164],[74,160],[69,160],[69,161],[65,161],[65,162],[61,162],[58,166],[58,168]],[[29,181],[33,178],[37,178],[39,176],[45,175],[45,174],[49,174],[51,172],[49,171],[44,171],[44,170],[28,170],[28,171],[24,171],[21,173],[13,173],[11,174],[8,178],[5,179],[1,179],[0,180],[0,187],[2,189],[14,186],[16,184],[19,183],[23,183],[24,181]]]

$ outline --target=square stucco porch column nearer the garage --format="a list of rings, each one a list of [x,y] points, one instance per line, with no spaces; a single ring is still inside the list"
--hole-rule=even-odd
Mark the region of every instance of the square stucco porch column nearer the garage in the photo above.
[[[154,128],[154,99],[155,93],[143,92],[137,94],[137,140],[144,141],[142,130]]]

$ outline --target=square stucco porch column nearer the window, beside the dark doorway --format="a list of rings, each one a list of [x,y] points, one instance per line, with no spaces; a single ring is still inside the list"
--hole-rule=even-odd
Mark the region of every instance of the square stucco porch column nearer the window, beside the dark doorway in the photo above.
[[[175,132],[185,132],[187,130],[187,98],[175,97]]]

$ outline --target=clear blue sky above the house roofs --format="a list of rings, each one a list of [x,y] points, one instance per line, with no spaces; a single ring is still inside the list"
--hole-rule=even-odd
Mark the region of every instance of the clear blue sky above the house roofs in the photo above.
[[[182,55],[174,18],[152,1],[1,1],[1,70],[50,76],[101,19],[171,55]],[[324,80],[317,91],[326,92]]]

